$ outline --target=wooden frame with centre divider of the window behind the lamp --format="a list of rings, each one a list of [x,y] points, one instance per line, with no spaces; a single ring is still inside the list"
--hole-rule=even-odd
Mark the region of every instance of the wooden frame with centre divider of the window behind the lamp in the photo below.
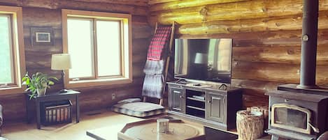
[[[67,10],[62,9],[62,34],[63,34],[63,52],[68,53],[68,32],[67,20],[69,18],[89,18],[96,24],[97,20],[116,20],[121,22],[121,73],[119,76],[98,77],[97,72],[97,47],[93,47],[93,70],[94,78],[85,79],[70,79],[69,70],[65,70],[64,87],[79,88],[88,86],[105,86],[112,84],[127,84],[132,82],[132,35],[131,35],[131,15],[119,13],[103,13],[85,10]],[[93,41],[97,40],[97,35],[94,33]],[[93,42],[97,46],[97,41]]]

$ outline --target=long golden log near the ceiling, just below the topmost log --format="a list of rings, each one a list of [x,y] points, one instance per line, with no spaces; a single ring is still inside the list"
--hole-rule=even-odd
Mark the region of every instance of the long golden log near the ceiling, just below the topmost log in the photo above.
[[[218,3],[153,12],[150,14],[149,22],[170,24],[175,21],[178,22],[178,24],[194,24],[222,20],[281,17],[301,14],[302,7],[302,0],[255,0],[235,3]],[[321,1],[320,10],[328,10],[328,1]]]

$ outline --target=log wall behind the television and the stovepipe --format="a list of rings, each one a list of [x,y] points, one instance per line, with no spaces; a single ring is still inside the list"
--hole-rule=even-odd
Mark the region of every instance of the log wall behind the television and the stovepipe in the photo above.
[[[178,38],[233,38],[232,86],[244,107],[266,91],[299,83],[302,0],[150,0],[150,24],[178,22]],[[320,0],[317,84],[328,84],[328,1]]]

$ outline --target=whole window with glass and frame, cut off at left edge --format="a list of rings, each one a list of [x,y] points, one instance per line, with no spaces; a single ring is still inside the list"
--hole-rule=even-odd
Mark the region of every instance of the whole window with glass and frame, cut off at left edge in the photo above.
[[[0,94],[22,93],[25,72],[22,8],[0,6]]]

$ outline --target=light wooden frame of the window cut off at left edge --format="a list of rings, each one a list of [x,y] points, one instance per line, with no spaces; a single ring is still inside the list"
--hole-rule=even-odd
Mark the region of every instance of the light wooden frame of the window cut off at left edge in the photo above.
[[[24,33],[22,23],[22,8],[15,6],[0,6],[1,15],[10,16],[10,43],[11,43],[11,54],[12,70],[13,70],[13,84],[0,86],[0,94],[11,94],[11,93],[24,93],[22,86],[22,77],[24,77],[25,68],[25,53],[24,53]]]

